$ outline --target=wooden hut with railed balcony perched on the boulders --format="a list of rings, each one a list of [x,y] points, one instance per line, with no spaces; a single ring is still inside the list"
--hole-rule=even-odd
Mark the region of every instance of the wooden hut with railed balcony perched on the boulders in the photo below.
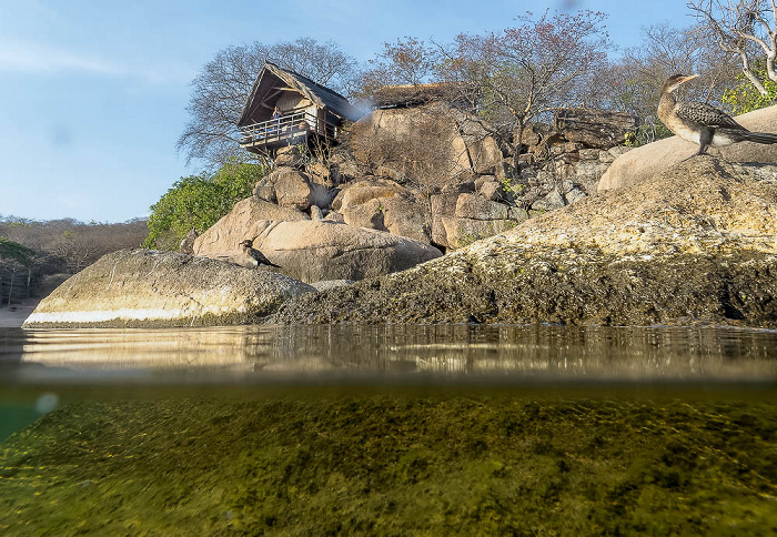
[[[276,107],[280,118],[273,118]],[[240,146],[253,153],[273,153],[312,136],[331,142],[337,139],[343,120],[356,121],[361,115],[336,91],[266,62],[238,122]]]

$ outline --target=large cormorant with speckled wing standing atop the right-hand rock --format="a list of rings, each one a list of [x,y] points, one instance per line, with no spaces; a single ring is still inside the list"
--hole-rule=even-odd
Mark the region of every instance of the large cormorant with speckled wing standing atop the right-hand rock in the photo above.
[[[688,159],[707,154],[707,148],[723,148],[738,142],[777,143],[777,134],[750,132],[734,119],[704,102],[678,101],[673,92],[698,74],[669,77],[660,90],[658,118],[683,140],[698,144]],[[685,159],[685,160],[688,160]]]

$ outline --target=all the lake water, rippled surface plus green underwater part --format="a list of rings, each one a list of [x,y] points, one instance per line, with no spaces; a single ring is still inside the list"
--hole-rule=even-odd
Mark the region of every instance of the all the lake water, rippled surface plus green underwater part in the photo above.
[[[0,328],[0,533],[766,535],[776,381],[761,330]]]

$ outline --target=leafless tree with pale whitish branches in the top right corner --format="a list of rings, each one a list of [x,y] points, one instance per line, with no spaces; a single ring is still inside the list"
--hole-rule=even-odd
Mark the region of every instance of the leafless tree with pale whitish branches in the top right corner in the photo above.
[[[777,0],[692,0],[688,8],[724,51],[739,58],[741,73],[756,91],[767,95],[765,81],[777,82]],[[759,52],[766,77],[754,70]]]

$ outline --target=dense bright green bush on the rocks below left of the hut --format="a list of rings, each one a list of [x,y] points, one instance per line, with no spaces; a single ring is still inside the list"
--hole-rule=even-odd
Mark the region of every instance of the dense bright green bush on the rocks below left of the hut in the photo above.
[[[202,233],[249,197],[265,174],[262,165],[231,162],[210,176],[181,178],[151,206],[143,246],[176,250],[192,229]]]

